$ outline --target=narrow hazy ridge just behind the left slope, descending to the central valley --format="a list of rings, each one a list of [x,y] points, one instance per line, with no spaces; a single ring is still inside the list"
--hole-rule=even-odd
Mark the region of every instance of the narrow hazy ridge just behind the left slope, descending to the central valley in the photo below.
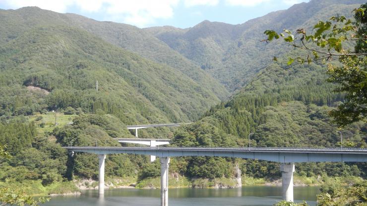
[[[217,80],[144,30],[127,24],[95,21],[75,14],[66,14],[66,16],[70,18],[72,25],[145,58],[160,64],[167,64],[181,71],[222,100],[228,97],[228,91]]]

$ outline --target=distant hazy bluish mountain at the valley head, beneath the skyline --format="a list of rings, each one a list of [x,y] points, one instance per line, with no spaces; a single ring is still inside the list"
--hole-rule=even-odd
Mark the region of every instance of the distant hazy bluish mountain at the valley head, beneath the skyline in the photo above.
[[[273,56],[286,52],[284,46],[260,42],[265,39],[265,30],[305,28],[311,31],[310,26],[316,21],[328,20],[333,14],[350,16],[350,11],[362,3],[363,0],[311,0],[239,25],[203,21],[185,30],[167,27],[145,30],[195,62],[233,92],[271,63]]]

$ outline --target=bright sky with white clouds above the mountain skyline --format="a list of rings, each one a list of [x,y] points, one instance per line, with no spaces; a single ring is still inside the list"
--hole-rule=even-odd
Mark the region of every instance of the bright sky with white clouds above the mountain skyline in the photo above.
[[[204,20],[242,24],[300,2],[308,0],[0,0],[0,8],[38,6],[139,28],[188,28]]]

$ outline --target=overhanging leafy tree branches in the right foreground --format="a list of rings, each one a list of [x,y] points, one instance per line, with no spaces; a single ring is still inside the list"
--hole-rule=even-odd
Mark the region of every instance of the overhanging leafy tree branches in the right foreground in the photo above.
[[[329,60],[334,56],[339,57],[342,67],[328,64],[328,81],[337,83],[337,92],[346,93],[345,102],[330,114],[337,124],[345,126],[360,120],[367,121],[367,20],[365,11],[367,4],[362,4],[354,9],[354,20],[345,16],[333,16],[330,21],[319,21],[313,26],[314,33],[309,34],[306,29],[300,28],[292,33],[285,29],[278,34],[274,30],[266,30],[266,40],[282,38],[294,48],[309,52],[306,57],[289,57],[287,62],[291,65],[294,60],[301,64],[307,62]],[[343,43],[345,44],[343,46]],[[348,43],[354,45],[355,51],[348,49]],[[276,60],[276,57],[274,58]]]

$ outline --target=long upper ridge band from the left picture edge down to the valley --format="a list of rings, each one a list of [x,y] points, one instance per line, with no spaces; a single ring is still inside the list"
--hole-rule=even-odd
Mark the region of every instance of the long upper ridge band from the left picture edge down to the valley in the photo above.
[[[203,89],[207,90],[209,95],[215,94],[220,99],[225,99],[228,96],[224,86],[211,78],[197,65],[171,49],[166,43],[137,27],[114,22],[95,21],[76,14],[61,14],[38,7],[3,10],[0,12],[0,18],[3,20],[3,24],[0,25],[0,33],[2,33],[0,42],[9,41],[37,26],[71,26],[85,30],[104,41],[135,52],[157,63],[167,64],[194,80]],[[15,22],[16,27],[14,27]]]

